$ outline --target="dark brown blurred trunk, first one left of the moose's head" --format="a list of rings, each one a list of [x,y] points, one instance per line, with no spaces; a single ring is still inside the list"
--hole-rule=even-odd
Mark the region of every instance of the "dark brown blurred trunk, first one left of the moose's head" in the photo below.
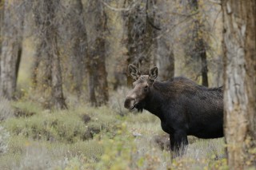
[[[106,14],[100,0],[90,1],[90,35],[87,69],[89,74],[90,103],[106,105],[109,100],[106,73]]]

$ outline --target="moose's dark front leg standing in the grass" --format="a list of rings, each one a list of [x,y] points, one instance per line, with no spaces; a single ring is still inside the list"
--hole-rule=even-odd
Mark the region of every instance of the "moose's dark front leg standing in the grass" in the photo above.
[[[178,130],[170,134],[170,149],[174,152],[174,157],[182,155],[187,144],[188,140],[185,131]]]

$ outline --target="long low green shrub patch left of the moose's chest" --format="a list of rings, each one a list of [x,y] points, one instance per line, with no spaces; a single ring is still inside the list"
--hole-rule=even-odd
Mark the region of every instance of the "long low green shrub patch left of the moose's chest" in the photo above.
[[[89,121],[85,122],[85,114],[90,117]],[[119,121],[113,111],[106,107],[99,109],[87,107],[82,111],[70,109],[52,113],[38,112],[31,117],[11,118],[5,122],[7,130],[14,135],[65,143],[89,140],[102,131],[109,132],[113,136],[118,124]]]

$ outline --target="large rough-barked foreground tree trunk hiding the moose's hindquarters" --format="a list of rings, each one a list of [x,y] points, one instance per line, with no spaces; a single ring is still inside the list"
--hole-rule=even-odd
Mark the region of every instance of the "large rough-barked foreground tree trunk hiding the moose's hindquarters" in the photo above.
[[[256,166],[256,2],[223,0],[224,132],[230,169]]]

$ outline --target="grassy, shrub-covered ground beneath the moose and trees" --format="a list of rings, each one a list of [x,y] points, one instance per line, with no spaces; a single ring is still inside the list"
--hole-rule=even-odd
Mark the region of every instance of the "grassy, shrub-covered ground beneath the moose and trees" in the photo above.
[[[123,91],[112,96],[67,110],[0,99],[0,169],[227,169],[223,138],[191,136],[171,160],[158,117],[124,109]]]

